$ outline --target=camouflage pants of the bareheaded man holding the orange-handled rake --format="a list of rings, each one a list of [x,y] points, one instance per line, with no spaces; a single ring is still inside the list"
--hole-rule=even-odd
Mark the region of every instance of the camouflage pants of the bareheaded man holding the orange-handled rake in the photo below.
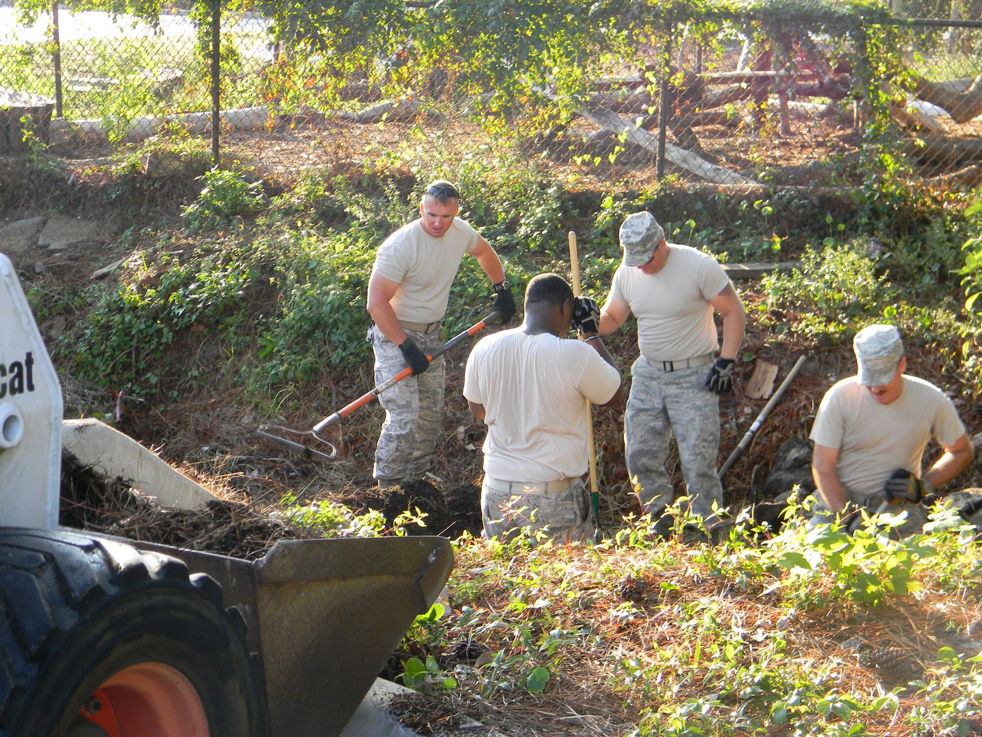
[[[426,334],[407,330],[407,336],[423,353],[430,354],[441,345],[440,331]],[[406,359],[399,346],[382,335],[377,327],[369,331],[375,351],[375,383],[386,381],[406,369]],[[430,368],[417,376],[404,378],[379,394],[385,408],[385,423],[375,448],[376,479],[415,482],[429,470],[440,434],[443,410],[444,365],[438,357]]]

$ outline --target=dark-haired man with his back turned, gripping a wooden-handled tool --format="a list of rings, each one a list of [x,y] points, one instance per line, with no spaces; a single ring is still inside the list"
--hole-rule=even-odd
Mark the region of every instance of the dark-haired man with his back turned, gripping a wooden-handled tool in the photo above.
[[[593,538],[590,494],[581,479],[590,457],[583,398],[621,399],[621,372],[597,327],[600,310],[574,298],[557,274],[539,274],[525,290],[518,327],[483,338],[467,359],[464,397],[488,427],[481,516],[484,537]],[[584,341],[566,339],[575,325]]]

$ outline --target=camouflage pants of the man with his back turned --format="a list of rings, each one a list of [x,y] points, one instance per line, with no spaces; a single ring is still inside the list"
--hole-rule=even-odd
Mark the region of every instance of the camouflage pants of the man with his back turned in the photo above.
[[[544,482],[500,482],[484,477],[481,517],[484,538],[503,542],[515,539],[526,528],[533,544],[545,539],[585,542],[593,539],[596,527],[590,492],[582,479],[551,491]]]

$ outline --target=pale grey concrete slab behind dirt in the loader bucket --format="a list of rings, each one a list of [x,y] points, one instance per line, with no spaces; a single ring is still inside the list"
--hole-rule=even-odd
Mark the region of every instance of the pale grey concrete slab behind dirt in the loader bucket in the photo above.
[[[91,418],[62,422],[62,448],[110,479],[125,479],[165,509],[194,509],[217,499],[129,435]]]

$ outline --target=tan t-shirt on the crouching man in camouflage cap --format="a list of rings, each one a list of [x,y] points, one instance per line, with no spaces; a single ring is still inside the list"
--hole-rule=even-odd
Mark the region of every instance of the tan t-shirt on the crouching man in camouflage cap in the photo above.
[[[952,400],[931,382],[903,374],[900,397],[887,405],[873,399],[855,376],[834,384],[822,398],[810,437],[839,448],[836,474],[848,497],[862,502],[883,491],[897,469],[919,478],[931,437],[952,445],[963,434]]]

